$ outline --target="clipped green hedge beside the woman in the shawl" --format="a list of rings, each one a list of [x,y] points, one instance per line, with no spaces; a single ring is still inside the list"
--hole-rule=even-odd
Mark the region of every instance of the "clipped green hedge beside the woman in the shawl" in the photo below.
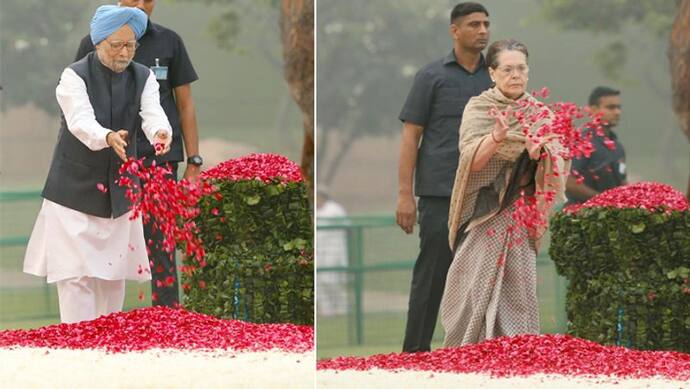
[[[583,208],[557,213],[551,234],[570,334],[690,352],[690,212]]]

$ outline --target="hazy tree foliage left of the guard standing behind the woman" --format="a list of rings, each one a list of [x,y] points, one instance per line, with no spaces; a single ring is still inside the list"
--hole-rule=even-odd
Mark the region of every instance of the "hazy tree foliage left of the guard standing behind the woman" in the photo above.
[[[416,71],[451,48],[444,33],[452,5],[401,0],[353,6],[319,1],[319,182],[333,179],[358,138],[400,131],[397,117]],[[338,139],[337,149],[331,150],[336,143],[333,137]]]

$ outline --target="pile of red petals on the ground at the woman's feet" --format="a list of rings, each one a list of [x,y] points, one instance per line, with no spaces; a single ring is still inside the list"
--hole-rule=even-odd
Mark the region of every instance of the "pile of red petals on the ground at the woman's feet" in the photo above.
[[[432,352],[321,360],[317,368],[487,373],[496,377],[542,373],[690,380],[690,354],[602,346],[568,335],[520,335]]]

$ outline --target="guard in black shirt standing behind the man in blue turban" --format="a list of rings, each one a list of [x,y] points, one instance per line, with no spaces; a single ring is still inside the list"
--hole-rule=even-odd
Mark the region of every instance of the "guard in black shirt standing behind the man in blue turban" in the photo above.
[[[187,152],[187,167],[184,178],[194,179],[201,170],[203,163],[199,156],[199,133],[196,124],[196,110],[192,99],[191,83],[199,77],[194,71],[182,38],[169,28],[151,21],[151,14],[156,5],[155,0],[123,0],[120,6],[137,7],[149,16],[144,36],[139,39],[139,48],[134,55],[134,61],[153,70],[158,80],[161,106],[168,116],[173,129],[173,139],[170,151],[161,156],[155,156],[153,147],[139,138],[137,156],[146,157],[147,163],[156,160],[157,163],[167,162],[171,165],[174,178],[177,179],[177,164],[183,160],[184,151]],[[82,39],[75,60],[83,58],[93,51],[91,38],[87,35]],[[184,150],[182,143],[184,142]],[[179,303],[178,281],[175,265],[175,253],[169,254],[162,249],[162,235],[153,232],[151,225],[144,226],[146,241],[152,240],[150,259],[151,290],[154,305],[174,306]],[[170,283],[171,278],[174,282]]]

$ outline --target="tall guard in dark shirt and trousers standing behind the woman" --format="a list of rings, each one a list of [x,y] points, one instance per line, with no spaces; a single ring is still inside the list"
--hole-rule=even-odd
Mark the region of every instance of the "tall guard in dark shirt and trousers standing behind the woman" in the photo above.
[[[396,219],[403,231],[413,232],[417,216],[414,196],[418,196],[420,237],[404,352],[431,347],[453,259],[448,246],[448,208],[460,156],[460,121],[470,97],[491,84],[481,53],[489,42],[489,13],[481,4],[460,3],[453,8],[450,22],[453,50],[419,70],[399,117],[403,131]]]

